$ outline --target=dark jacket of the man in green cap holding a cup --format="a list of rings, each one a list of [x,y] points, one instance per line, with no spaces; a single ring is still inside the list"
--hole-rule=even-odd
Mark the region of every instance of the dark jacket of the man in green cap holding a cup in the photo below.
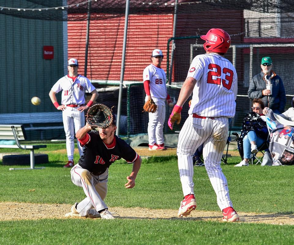
[[[272,71],[273,72],[273,71]],[[281,77],[273,72],[274,76],[271,78],[273,85],[272,95],[262,95],[262,90],[266,89],[266,81],[264,80],[264,73],[255,75],[250,81],[248,89],[249,99],[262,99],[264,105],[273,111],[278,110],[280,113],[284,112],[286,105],[286,93]],[[268,105],[269,97],[269,105]]]

